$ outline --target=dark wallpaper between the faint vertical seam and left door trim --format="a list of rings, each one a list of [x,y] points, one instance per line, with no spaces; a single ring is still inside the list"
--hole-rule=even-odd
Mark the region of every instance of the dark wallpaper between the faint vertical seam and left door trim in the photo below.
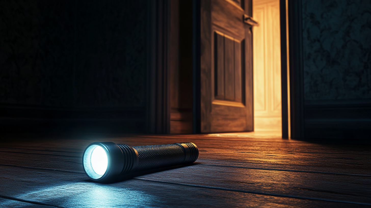
[[[146,5],[144,0],[78,1],[77,106],[144,105]]]

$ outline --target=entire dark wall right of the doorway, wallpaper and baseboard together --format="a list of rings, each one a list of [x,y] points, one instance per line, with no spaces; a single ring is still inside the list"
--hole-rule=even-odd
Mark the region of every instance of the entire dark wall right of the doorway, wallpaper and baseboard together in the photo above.
[[[305,136],[370,139],[371,1],[302,0]]]

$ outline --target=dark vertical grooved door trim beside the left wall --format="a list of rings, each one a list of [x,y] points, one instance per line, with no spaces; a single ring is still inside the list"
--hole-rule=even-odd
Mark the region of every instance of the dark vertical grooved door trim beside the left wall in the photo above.
[[[147,132],[170,133],[170,1],[150,1]]]

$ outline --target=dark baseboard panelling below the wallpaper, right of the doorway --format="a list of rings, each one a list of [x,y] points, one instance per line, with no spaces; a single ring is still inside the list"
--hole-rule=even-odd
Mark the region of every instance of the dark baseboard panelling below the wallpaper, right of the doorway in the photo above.
[[[304,115],[306,139],[371,140],[371,100],[306,101]]]

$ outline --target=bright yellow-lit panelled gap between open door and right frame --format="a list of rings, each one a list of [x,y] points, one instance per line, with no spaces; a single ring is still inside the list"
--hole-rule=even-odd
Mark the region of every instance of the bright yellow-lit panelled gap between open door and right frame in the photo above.
[[[253,0],[254,131],[282,131],[280,3]]]

